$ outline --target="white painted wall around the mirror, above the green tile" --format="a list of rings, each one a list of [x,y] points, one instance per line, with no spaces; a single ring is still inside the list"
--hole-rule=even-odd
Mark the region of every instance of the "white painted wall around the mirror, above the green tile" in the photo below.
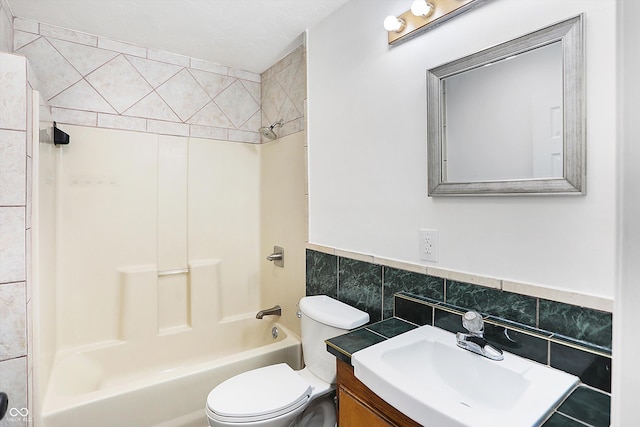
[[[615,2],[492,0],[398,46],[405,0],[352,0],[310,29],[309,240],[611,298],[615,273]],[[425,70],[585,14],[586,196],[426,196]]]

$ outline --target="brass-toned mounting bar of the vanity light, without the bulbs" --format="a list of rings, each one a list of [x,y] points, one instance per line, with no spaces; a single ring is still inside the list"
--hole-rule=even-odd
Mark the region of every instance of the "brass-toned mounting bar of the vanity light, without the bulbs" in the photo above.
[[[415,16],[411,10],[406,11],[398,16],[399,20],[404,21],[405,26],[399,31],[388,31],[389,44],[399,43],[410,39],[423,31],[433,28],[454,16],[466,12],[472,7],[477,6],[484,0],[427,0],[433,5],[433,12],[426,17]]]

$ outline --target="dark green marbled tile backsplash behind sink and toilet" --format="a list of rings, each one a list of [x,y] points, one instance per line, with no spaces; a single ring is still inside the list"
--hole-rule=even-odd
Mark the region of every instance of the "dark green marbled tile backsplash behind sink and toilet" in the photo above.
[[[368,312],[372,323],[397,316],[417,325],[462,332],[461,315],[476,310],[488,316],[487,337],[505,350],[611,391],[609,312],[311,249],[306,264],[307,295],[337,298]]]

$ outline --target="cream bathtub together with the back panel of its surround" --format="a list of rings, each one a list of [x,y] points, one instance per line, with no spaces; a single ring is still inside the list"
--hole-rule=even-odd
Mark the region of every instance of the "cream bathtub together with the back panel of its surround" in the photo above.
[[[203,425],[224,379],[299,368],[295,333],[255,319],[260,147],[63,127],[57,351],[41,424]]]

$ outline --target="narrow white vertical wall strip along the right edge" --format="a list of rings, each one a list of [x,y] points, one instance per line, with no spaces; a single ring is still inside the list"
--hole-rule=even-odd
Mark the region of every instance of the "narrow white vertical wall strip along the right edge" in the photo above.
[[[637,336],[637,309],[640,304],[640,29],[637,17],[640,3],[637,0],[618,2],[618,277],[616,286],[615,321],[613,323],[613,402],[612,424],[631,426],[638,422],[640,407],[640,369],[638,353],[640,342]]]

